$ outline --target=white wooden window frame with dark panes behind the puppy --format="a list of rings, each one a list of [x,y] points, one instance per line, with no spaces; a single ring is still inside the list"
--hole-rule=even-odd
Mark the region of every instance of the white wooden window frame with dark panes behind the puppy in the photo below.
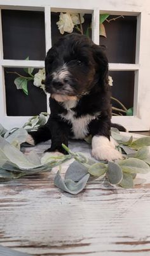
[[[135,93],[133,102],[133,117],[113,117],[113,122],[122,124],[128,131],[147,131],[150,124],[150,87],[149,87],[149,56],[150,34],[147,24],[150,23],[150,4],[142,0],[0,0],[0,9],[44,11],[46,51],[51,47],[51,11],[71,11],[92,13],[92,39],[99,44],[99,14],[137,16],[137,39],[135,64],[110,63],[111,71],[135,71]],[[40,60],[6,60],[3,59],[3,39],[0,13],[0,119],[6,128],[20,127],[29,117],[7,117],[4,89],[5,67],[43,68]],[[48,101],[47,101],[48,102]],[[48,105],[48,104],[47,104]],[[48,108],[48,111],[49,108]]]

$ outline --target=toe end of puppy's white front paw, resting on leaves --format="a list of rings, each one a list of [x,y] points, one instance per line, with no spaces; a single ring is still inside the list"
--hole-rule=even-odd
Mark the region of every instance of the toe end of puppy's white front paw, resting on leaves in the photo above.
[[[93,148],[92,156],[97,160],[112,161],[122,159],[122,155],[118,150],[107,146],[98,146],[97,148]]]

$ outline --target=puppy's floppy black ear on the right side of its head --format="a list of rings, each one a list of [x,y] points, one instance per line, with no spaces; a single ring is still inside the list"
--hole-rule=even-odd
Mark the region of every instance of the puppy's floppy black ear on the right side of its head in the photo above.
[[[108,60],[104,52],[104,46],[92,45],[93,59],[95,60],[96,73],[100,81],[106,82],[108,76]]]

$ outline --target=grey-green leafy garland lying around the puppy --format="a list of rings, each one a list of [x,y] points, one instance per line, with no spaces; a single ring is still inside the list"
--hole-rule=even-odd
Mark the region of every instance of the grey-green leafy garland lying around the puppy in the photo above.
[[[26,157],[20,151],[20,145],[27,138],[27,131],[38,129],[46,122],[47,113],[32,117],[24,127],[7,131],[0,125],[0,181],[10,181],[25,175],[51,171],[59,166],[54,180],[56,187],[78,194],[86,187],[88,181],[99,178],[106,179],[112,185],[119,185],[123,188],[133,188],[133,180],[137,173],[148,173],[150,171],[150,137],[143,137],[133,141],[132,136],[127,138],[120,134],[118,129],[112,129],[111,136],[118,143],[117,149],[123,153],[123,160],[113,162],[89,159],[83,153],[72,152],[67,146],[62,147],[68,155],[50,155],[45,153],[41,159],[32,150]],[[90,143],[91,137],[86,138]],[[23,144],[24,145],[24,144]],[[74,159],[68,167],[64,180],[60,176],[61,164]]]

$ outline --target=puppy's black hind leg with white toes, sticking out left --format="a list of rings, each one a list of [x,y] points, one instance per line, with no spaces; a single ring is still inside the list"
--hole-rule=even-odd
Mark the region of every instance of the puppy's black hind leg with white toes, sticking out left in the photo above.
[[[28,132],[26,142],[36,145],[40,142],[48,141],[48,139],[51,139],[50,129],[46,125],[43,125],[39,127],[38,131]]]

